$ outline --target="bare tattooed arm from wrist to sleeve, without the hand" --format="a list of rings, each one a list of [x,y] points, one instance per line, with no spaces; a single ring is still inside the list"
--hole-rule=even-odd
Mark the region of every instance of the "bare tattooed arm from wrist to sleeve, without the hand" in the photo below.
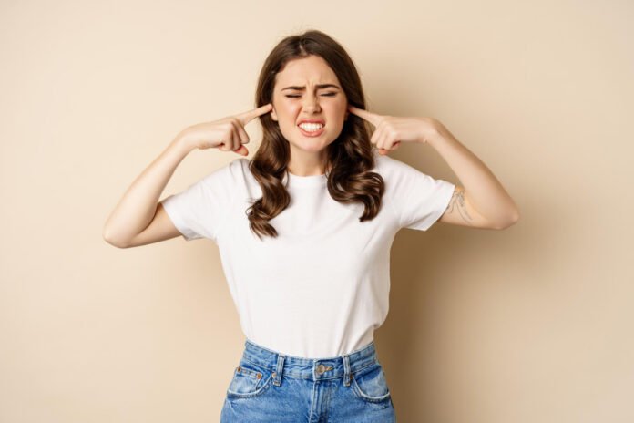
[[[439,120],[424,120],[428,123],[426,128],[431,130],[425,131],[419,142],[427,143],[438,151],[464,184],[464,187],[456,187],[449,207],[439,221],[465,224],[469,220],[474,221],[477,216],[486,222],[479,226],[490,229],[506,229],[516,223],[519,210],[515,201],[486,164],[458,141]]]

